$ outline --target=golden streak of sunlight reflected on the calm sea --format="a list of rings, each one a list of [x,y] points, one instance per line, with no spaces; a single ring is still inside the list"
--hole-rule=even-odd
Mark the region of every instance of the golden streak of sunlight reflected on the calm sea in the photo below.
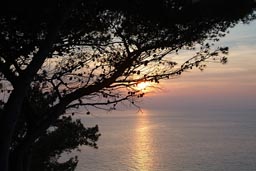
[[[146,113],[139,115],[134,133],[134,167],[140,171],[151,171],[154,165],[152,136],[148,119]]]

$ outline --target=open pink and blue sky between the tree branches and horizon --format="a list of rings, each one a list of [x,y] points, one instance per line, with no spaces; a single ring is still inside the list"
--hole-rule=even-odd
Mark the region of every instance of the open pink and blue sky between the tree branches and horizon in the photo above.
[[[162,81],[140,102],[142,109],[167,111],[256,111],[256,21],[239,23],[216,43],[229,46],[228,63],[207,64]]]

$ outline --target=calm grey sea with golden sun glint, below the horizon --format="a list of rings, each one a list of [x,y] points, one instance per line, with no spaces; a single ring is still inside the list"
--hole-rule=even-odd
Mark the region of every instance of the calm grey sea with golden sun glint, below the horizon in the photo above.
[[[146,111],[79,116],[97,124],[77,171],[255,171],[256,112]]]

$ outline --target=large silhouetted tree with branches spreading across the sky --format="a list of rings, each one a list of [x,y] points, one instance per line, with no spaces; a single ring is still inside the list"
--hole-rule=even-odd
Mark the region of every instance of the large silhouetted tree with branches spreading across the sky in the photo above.
[[[89,107],[134,104],[143,97],[134,88],[139,82],[179,76],[194,66],[202,68],[211,57],[225,63],[220,53],[227,54],[228,48],[212,52],[204,40],[216,41],[239,20],[254,18],[254,1],[227,2],[13,0],[2,5],[0,88],[9,94],[1,101],[0,170],[9,170],[15,129],[35,87],[51,101],[28,114],[35,115],[36,124],[26,128],[20,141],[19,170],[28,169],[33,144],[67,110],[83,106],[89,114]],[[197,44],[201,50],[179,67],[168,58]]]

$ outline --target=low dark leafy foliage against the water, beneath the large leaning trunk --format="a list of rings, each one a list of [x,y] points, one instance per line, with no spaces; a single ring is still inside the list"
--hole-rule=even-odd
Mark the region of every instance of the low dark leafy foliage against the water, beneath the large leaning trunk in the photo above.
[[[59,162],[61,154],[79,150],[78,146],[81,145],[97,148],[96,141],[100,136],[98,126],[84,128],[80,120],[72,121],[69,116],[58,119],[54,128],[55,130],[48,131],[34,144],[31,170],[73,171],[78,163],[77,156]]]

